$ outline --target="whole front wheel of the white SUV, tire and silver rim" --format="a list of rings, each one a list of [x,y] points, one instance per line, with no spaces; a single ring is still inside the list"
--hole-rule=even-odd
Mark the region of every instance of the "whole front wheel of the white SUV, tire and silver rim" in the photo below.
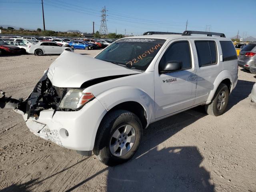
[[[124,133],[125,130],[127,133]],[[140,119],[132,112],[116,110],[107,114],[102,120],[93,152],[103,164],[116,166],[132,158],[138,150],[141,138]],[[128,140],[131,142],[129,143]]]

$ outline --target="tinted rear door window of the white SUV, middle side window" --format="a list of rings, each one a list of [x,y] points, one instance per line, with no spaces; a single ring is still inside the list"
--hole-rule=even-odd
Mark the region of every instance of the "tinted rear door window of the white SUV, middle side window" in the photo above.
[[[217,64],[216,43],[195,41],[199,67]]]

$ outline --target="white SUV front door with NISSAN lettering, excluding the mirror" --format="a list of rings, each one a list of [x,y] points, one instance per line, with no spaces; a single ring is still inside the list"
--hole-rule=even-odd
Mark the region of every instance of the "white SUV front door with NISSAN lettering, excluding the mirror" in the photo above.
[[[173,114],[194,105],[196,97],[196,68],[191,42],[173,40],[165,48],[155,65],[155,117]],[[182,62],[182,69],[160,74],[159,64]]]

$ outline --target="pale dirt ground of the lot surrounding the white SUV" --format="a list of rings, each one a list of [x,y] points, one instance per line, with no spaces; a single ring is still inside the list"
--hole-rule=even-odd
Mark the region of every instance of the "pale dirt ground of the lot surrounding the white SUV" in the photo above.
[[[0,89],[26,97],[57,57],[1,57]],[[134,158],[116,167],[38,138],[0,110],[0,191],[256,192],[256,78],[241,68],[238,77],[224,115],[197,107],[151,124]]]

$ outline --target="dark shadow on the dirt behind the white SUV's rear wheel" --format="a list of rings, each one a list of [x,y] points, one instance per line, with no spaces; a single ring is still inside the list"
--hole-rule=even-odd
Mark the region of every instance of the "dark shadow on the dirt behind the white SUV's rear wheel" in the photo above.
[[[230,94],[226,112],[250,95],[254,83],[255,82],[244,80],[237,81],[236,88]]]

